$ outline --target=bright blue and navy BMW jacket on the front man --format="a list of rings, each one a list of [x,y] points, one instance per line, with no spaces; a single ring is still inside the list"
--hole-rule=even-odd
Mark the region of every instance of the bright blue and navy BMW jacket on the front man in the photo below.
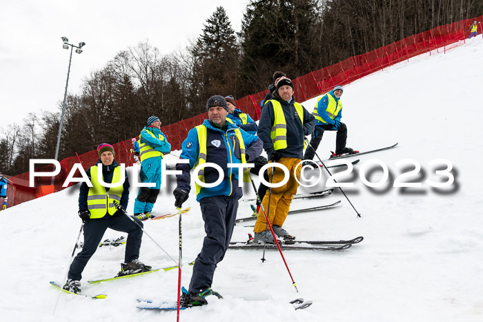
[[[216,163],[223,169],[223,181],[213,188],[201,188],[196,197],[197,201],[205,197],[213,196],[235,196],[242,197],[242,188],[238,188],[238,170],[236,168],[228,168],[228,163],[242,163],[240,156],[235,153],[238,149],[233,149],[236,125],[226,122],[223,127],[219,127],[211,123],[208,119],[204,120],[203,125],[206,126],[206,162]],[[262,153],[262,141],[256,136],[240,130],[246,148],[247,162],[252,161]],[[229,143],[228,143],[229,140]],[[193,168],[199,157],[198,133],[196,128],[188,132],[188,137],[181,145],[183,152],[179,159],[189,160],[189,164],[177,164],[176,170],[181,170],[182,174],[177,174],[177,188],[190,190],[190,169]],[[234,151],[235,150],[235,151]],[[218,179],[218,172],[215,168],[205,168],[205,183],[213,183]]]

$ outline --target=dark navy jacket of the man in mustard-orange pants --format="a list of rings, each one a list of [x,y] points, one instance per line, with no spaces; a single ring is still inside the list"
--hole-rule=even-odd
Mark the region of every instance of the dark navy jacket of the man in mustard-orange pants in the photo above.
[[[277,92],[273,92],[273,99],[276,99],[282,105],[284,111],[284,117],[287,124],[287,147],[281,150],[277,150],[282,154],[282,157],[304,159],[304,139],[306,135],[312,134],[315,128],[315,117],[304,108],[304,125],[300,123],[300,117],[295,110],[295,97],[292,97],[289,102],[284,101],[279,97]],[[258,123],[258,137],[264,141],[264,150],[270,161],[270,156],[275,151],[273,147],[272,139],[270,138],[270,132],[272,132],[272,125],[275,120],[275,112],[273,112],[273,104],[268,101],[265,104],[260,121]]]

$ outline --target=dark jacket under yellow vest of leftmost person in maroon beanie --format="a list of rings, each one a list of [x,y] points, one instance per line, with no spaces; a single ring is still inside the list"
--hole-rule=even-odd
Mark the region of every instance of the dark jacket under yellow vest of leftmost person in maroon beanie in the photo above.
[[[119,164],[116,160],[112,161],[111,165],[103,165],[101,160],[99,159],[96,163],[98,167],[102,167],[102,179],[105,183],[112,183],[112,176],[114,175],[114,168],[119,167]],[[90,168],[86,171],[87,177],[89,180],[92,180],[90,177]],[[129,178],[128,173],[125,172],[124,176],[126,179],[124,180],[124,184],[122,185],[123,191],[121,195],[121,202],[119,202],[124,209],[128,208],[128,201],[129,201]],[[109,191],[109,188],[106,187],[106,191]],[[89,187],[87,183],[81,183],[81,188],[79,190],[79,211],[88,210],[87,208],[87,195],[89,193]],[[106,216],[101,219],[108,219],[111,216],[108,214],[106,210]]]

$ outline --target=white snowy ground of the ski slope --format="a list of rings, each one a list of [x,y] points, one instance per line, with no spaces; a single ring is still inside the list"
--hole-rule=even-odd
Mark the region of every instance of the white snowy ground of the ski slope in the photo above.
[[[360,156],[361,163],[344,177],[355,182],[324,199],[295,200],[291,209],[342,200],[330,210],[295,214],[284,227],[298,239],[351,239],[364,241],[344,252],[285,252],[299,293],[278,252],[229,250],[215,272],[213,288],[223,300],[208,297],[209,305],[181,312],[182,321],[482,321],[483,320],[483,180],[482,157],[483,41],[467,41],[446,54],[427,54],[347,85],[342,96],[342,121],[348,125],[348,146],[357,150],[398,142],[398,148]],[[316,99],[304,103],[312,110]],[[480,129],[480,130],[479,130]],[[324,158],[335,148],[335,134],[326,133],[318,153]],[[390,175],[381,188],[368,188],[359,170],[370,159],[388,166]],[[397,161],[414,159],[419,174],[406,181],[421,188],[394,188],[402,172],[414,167]],[[453,163],[455,183],[431,188],[426,179],[446,181],[429,161]],[[403,171],[404,170],[404,171]],[[370,181],[380,170],[366,171]],[[315,191],[324,188],[327,178]],[[257,177],[255,177],[257,180]],[[157,214],[174,212],[170,191],[162,191]],[[247,188],[250,188],[247,186]],[[83,292],[108,294],[92,300],[61,294],[48,284],[61,281],[79,233],[78,187],[50,194],[0,212],[3,255],[0,281],[2,321],[175,321],[173,312],[139,311],[136,299],[175,299],[177,270],[132,279],[88,285],[86,281],[114,276],[124,259],[124,246],[99,248],[83,272]],[[253,192],[246,189],[246,198]],[[299,190],[302,192],[302,189]],[[132,189],[132,212],[137,190]],[[203,221],[193,189],[183,217],[185,262],[193,261],[204,237]],[[240,201],[239,217],[251,213]],[[145,223],[146,231],[177,258],[177,217]],[[248,225],[249,223],[247,223]],[[246,240],[253,228],[237,225],[233,240]],[[105,238],[117,238],[108,230]],[[141,261],[155,267],[174,264],[146,235]],[[192,268],[183,267],[187,286]],[[311,308],[295,311],[288,301],[313,300]],[[213,298],[212,298],[213,297]]]

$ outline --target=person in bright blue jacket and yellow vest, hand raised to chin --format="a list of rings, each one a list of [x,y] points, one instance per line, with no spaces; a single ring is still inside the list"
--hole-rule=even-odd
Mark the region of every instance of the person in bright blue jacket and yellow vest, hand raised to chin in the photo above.
[[[335,139],[335,154],[352,153],[353,149],[346,147],[347,142],[347,126],[340,121],[342,118],[342,92],[344,88],[342,85],[336,85],[333,90],[322,96],[312,112],[317,120],[315,130],[312,133],[311,146],[317,150],[324,131],[337,131]],[[315,150],[307,147],[304,154],[304,160],[312,160],[315,155]],[[304,164],[310,161],[304,162]]]

